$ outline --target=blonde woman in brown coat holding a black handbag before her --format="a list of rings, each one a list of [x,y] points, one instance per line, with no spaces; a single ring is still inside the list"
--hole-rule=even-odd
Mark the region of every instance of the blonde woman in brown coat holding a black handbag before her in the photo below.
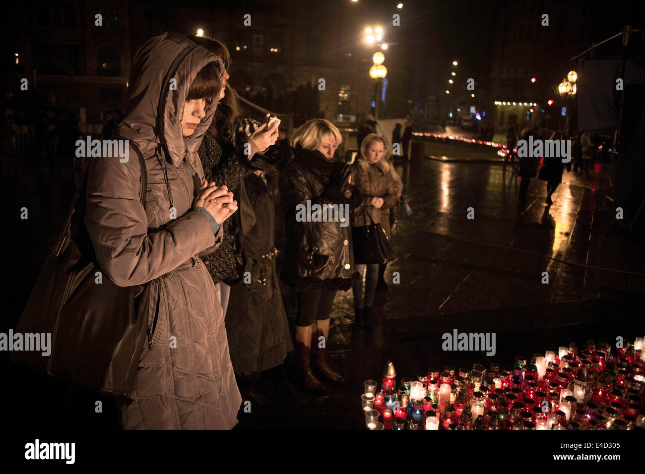
[[[352,176],[355,177],[355,185],[361,192],[365,215],[362,212],[355,215],[352,225],[359,227],[372,222],[380,223],[389,239],[392,235],[390,213],[397,205],[398,197],[392,165],[384,158],[387,146],[385,137],[376,133],[370,133],[362,141],[361,157],[352,164]],[[362,275],[366,268],[365,298],[363,299]],[[359,272],[359,279],[353,283],[352,290],[356,320],[359,321],[362,317],[365,319],[372,317],[372,303],[379,278],[379,264],[357,264],[356,271]]]

